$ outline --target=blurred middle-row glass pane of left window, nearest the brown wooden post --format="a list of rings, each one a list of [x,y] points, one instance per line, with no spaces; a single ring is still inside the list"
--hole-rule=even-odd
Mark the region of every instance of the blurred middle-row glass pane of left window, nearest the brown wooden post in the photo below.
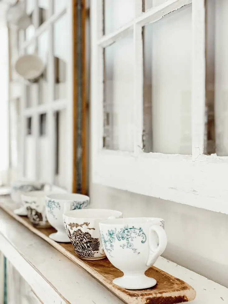
[[[55,100],[66,98],[66,69],[69,58],[68,28],[66,15],[54,23]]]

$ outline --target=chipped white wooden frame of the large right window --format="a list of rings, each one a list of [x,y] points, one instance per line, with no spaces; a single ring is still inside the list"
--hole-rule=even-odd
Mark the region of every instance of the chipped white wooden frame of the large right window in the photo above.
[[[92,181],[228,214],[228,158],[203,154],[205,131],[205,0],[167,0],[103,35],[102,0],[91,1]],[[192,155],[144,153],[142,26],[192,5]],[[103,47],[134,31],[134,152],[103,149]],[[137,118],[137,119],[136,119]]]

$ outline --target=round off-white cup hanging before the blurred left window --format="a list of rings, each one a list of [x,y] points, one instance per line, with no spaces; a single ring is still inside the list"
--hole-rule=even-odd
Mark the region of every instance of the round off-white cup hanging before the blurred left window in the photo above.
[[[36,82],[45,70],[45,64],[36,55],[26,54],[17,59],[17,73],[30,82]]]

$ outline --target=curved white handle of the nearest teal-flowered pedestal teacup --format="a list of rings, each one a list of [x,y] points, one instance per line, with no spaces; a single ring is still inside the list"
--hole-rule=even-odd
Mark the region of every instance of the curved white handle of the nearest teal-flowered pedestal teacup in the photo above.
[[[157,233],[158,239],[159,239],[159,245],[156,249],[153,248],[153,245],[152,245],[152,235],[151,235],[152,231],[155,231]],[[149,228],[149,246],[150,246],[150,254],[149,254],[149,259],[148,259],[146,265],[152,266],[152,265],[154,265],[154,263],[156,262],[158,257],[164,252],[164,250],[167,246],[167,236],[166,236],[165,230],[161,226],[158,226],[158,225],[150,226],[150,228]]]

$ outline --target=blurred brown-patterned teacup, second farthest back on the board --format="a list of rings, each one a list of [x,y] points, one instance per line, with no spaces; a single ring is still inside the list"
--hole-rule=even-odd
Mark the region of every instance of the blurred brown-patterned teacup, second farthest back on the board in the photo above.
[[[37,228],[50,227],[46,216],[45,197],[50,192],[31,191],[21,194],[22,204],[25,205],[28,212],[28,218]]]

